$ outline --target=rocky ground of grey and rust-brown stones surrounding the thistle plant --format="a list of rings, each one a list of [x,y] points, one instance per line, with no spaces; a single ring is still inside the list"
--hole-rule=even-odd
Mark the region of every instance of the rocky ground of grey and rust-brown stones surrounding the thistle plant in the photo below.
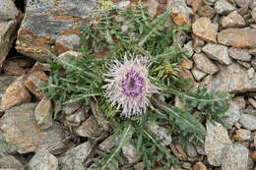
[[[98,2],[18,1],[0,0],[0,169],[91,169],[96,143],[109,150],[119,139],[108,137],[109,127],[96,110],[91,114],[80,103],[65,106],[67,117],[53,121],[54,102],[38,88],[49,78],[47,51],[77,55],[79,26]],[[180,64],[183,77],[195,86],[234,94],[226,112],[231,130],[208,122],[204,144],[184,149],[169,141],[165,129],[152,127],[182,162],[170,170],[256,170],[256,0],[144,3],[153,18],[171,9],[173,24],[192,26],[189,37],[177,34],[178,43],[189,52]],[[136,0],[114,4],[134,7]],[[122,151],[128,163],[136,161],[133,143]],[[141,170],[144,165],[123,169]]]

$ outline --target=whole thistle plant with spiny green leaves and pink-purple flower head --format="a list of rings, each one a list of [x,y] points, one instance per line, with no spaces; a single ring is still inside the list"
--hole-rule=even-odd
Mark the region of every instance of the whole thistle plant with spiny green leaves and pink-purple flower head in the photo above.
[[[51,78],[43,88],[56,102],[55,117],[63,105],[85,102],[96,103],[101,116],[111,122],[111,134],[120,142],[108,152],[97,151],[99,169],[119,169],[121,148],[128,141],[135,142],[137,161],[143,161],[147,170],[178,164],[168,146],[149,130],[152,121],[167,128],[176,136],[173,141],[183,146],[203,142],[206,136],[205,122],[194,111],[228,128],[224,112],[230,97],[207,88],[190,91],[189,81],[179,74],[186,50],[174,39],[177,31],[188,33],[190,27],[168,26],[168,10],[153,20],[140,2],[136,10],[111,9],[98,15],[97,22],[81,27],[81,56],[64,59],[50,54]],[[108,51],[107,57],[95,53],[98,47]],[[174,107],[170,101],[175,96],[186,107]]]

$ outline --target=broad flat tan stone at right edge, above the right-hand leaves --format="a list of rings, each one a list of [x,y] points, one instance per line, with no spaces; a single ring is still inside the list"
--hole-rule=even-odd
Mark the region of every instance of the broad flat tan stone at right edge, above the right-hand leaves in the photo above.
[[[208,80],[204,79],[206,81],[204,84],[207,87],[231,93],[254,91],[256,89],[255,74],[254,78],[250,80],[246,74],[246,69],[239,64],[233,63],[227,67],[220,65],[220,68],[220,73]]]

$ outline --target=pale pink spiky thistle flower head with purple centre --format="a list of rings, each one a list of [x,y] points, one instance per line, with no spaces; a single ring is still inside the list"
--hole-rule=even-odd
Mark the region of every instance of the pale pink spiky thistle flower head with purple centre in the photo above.
[[[112,106],[117,104],[117,110],[122,107],[125,117],[141,115],[149,106],[153,108],[150,98],[159,87],[151,84],[149,67],[147,57],[131,55],[128,60],[125,55],[123,63],[114,60],[104,74],[107,100]]]

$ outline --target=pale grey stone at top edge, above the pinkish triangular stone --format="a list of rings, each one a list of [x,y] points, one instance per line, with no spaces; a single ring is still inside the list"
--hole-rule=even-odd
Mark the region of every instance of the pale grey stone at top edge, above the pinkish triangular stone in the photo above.
[[[215,11],[218,14],[228,14],[229,12],[235,10],[235,7],[230,4],[227,0],[218,0],[215,3]]]

